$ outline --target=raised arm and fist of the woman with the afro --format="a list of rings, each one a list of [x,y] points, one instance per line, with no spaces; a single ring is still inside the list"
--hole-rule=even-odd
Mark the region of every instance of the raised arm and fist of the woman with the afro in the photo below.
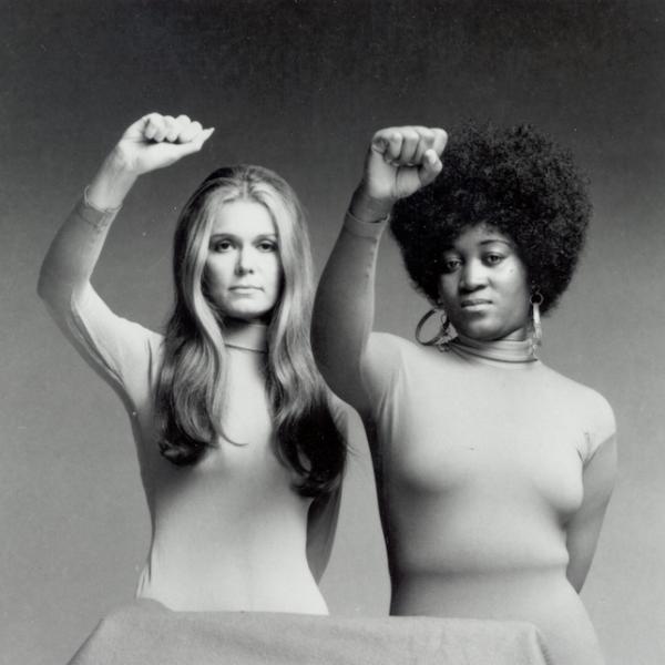
[[[315,358],[330,388],[360,412],[369,407],[362,370],[386,218],[399,198],[437,177],[446,141],[443,130],[420,126],[388,127],[374,135],[362,181],[321,275],[311,331]]]

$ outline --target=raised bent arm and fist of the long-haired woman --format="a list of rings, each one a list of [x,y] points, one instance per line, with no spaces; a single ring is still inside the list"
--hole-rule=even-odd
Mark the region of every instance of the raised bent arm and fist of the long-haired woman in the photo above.
[[[120,377],[112,356],[131,347],[132,340],[139,347],[141,328],[116,317],[96,295],[90,277],[115,213],[136,178],[197,152],[211,133],[186,116],[151,113],[133,123],[58,232],[42,264],[40,297],[81,354],[114,383]]]

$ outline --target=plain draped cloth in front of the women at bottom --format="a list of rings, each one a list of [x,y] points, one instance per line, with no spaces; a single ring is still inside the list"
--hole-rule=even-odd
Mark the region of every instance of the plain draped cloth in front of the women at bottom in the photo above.
[[[522,622],[171,612],[136,601],[103,618],[69,665],[550,665]]]

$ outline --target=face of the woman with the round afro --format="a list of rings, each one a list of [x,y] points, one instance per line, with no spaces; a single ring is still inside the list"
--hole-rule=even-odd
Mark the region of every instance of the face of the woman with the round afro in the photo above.
[[[473,226],[442,259],[439,295],[458,332],[485,341],[526,338],[526,268],[509,237],[489,225]]]

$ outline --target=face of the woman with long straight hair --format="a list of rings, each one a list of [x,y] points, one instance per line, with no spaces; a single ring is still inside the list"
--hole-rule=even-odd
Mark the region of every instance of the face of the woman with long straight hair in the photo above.
[[[224,203],[217,211],[205,263],[207,296],[225,317],[269,318],[282,291],[277,229],[254,201]]]

